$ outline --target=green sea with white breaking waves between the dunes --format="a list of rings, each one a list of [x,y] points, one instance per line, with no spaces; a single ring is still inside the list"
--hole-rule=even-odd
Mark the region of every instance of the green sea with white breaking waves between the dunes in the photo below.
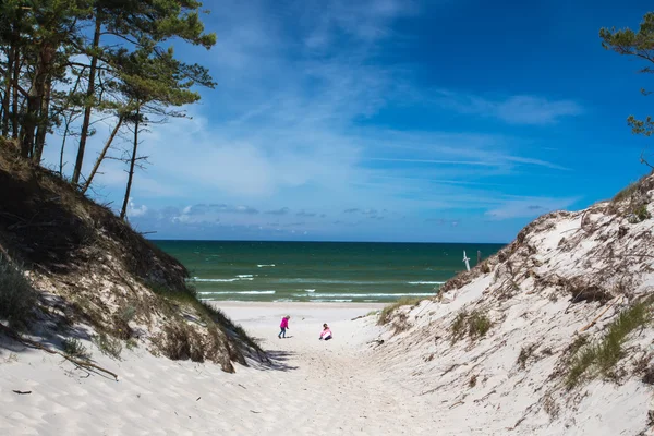
[[[429,296],[500,244],[364,242],[155,242],[190,271],[204,300],[379,302]]]

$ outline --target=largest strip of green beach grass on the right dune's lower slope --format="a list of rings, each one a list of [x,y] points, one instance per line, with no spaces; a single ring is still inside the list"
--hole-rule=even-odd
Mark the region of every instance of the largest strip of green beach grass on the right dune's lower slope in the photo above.
[[[610,377],[616,364],[622,358],[622,344],[627,336],[650,322],[651,304],[650,300],[635,303],[620,313],[598,342],[582,346],[570,360],[566,386],[571,389],[584,377],[593,378],[597,375]]]

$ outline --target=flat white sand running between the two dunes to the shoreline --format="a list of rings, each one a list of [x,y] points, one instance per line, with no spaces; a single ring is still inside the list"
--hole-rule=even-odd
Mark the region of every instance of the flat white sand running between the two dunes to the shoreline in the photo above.
[[[363,364],[379,328],[375,316],[351,319],[383,305],[219,306],[261,340],[271,366],[252,363],[227,374],[217,365],[173,362],[144,349],[125,349],[117,361],[85,341],[94,361],[119,375],[117,383],[61,356],[8,344],[0,349],[0,433],[420,434],[405,396],[383,383],[379,367]],[[280,340],[278,326],[287,314],[289,335]],[[318,340],[323,323],[334,340]]]

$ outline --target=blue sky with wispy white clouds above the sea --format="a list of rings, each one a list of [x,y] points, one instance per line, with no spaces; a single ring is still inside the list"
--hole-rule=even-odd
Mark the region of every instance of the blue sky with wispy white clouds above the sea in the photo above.
[[[154,238],[509,242],[646,172],[626,118],[651,113],[649,77],[598,38],[638,27],[644,1],[205,7],[218,44],[177,51],[218,86],[141,145],[129,218]],[[124,168],[102,172],[94,196],[119,207]]]

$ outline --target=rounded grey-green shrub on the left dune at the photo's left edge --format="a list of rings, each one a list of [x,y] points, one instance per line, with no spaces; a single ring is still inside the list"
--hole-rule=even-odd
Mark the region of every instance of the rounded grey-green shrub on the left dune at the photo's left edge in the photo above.
[[[36,302],[36,292],[23,271],[0,254],[0,319],[25,328]]]

